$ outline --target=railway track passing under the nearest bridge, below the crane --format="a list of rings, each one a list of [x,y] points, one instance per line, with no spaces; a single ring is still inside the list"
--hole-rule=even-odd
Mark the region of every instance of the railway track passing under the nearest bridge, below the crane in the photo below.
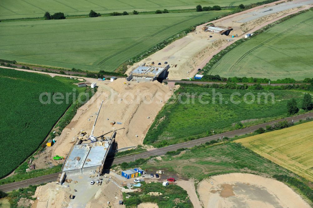
[[[288,122],[294,121],[295,122],[295,121],[299,121],[300,119],[304,120],[308,117],[313,118],[313,112],[302,114],[302,115],[297,115],[297,116],[292,116],[292,117],[288,117],[285,119],[279,119],[279,120],[275,120],[275,121],[271,121],[271,122],[267,122],[267,123],[263,123],[263,124],[258,124],[255,126],[250,126],[250,127],[244,128],[244,129],[238,129],[238,130],[228,131],[228,132],[221,133],[221,134],[215,134],[215,135],[203,137],[203,138],[200,138],[197,140],[192,140],[192,141],[183,142],[183,143],[179,143],[179,144],[175,144],[175,145],[170,145],[167,147],[158,148],[155,150],[142,152],[142,153],[139,153],[136,155],[112,157],[112,158],[107,158],[106,160],[109,161],[112,165],[115,165],[115,164],[120,164],[122,162],[130,162],[132,160],[137,160],[140,158],[147,158],[150,156],[157,156],[157,155],[165,155],[168,151],[174,151],[174,150],[178,150],[180,148],[190,148],[190,147],[193,147],[196,145],[204,144],[204,143],[212,141],[212,140],[218,140],[220,138],[222,139],[223,137],[231,138],[231,137],[234,137],[236,135],[239,136],[239,135],[243,135],[243,134],[249,134],[249,133],[252,133],[259,128],[265,128],[267,125],[273,125],[273,124],[280,122],[280,121],[288,121]],[[10,191],[10,190],[18,189],[18,188],[27,187],[29,185],[38,185],[38,184],[42,184],[42,183],[56,181],[58,179],[58,176],[60,173],[61,172],[50,174],[50,175],[44,175],[44,176],[40,176],[37,178],[27,179],[27,180],[23,180],[23,181],[13,182],[13,183],[6,184],[6,185],[1,185],[0,190]]]

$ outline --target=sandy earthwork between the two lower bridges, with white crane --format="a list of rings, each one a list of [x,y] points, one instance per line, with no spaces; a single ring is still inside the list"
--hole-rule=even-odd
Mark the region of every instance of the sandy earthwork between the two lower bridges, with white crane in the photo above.
[[[100,136],[117,130],[117,148],[141,145],[151,123],[166,101],[172,96],[173,88],[157,81],[139,82],[117,79],[114,82],[97,81],[98,91],[77,111],[52,147],[46,149],[34,163],[38,168],[47,166],[54,155],[66,156],[73,141],[81,130],[91,133],[96,113],[101,107],[94,135]],[[122,124],[111,125],[110,121]],[[110,136],[108,133],[105,136]],[[55,163],[55,161],[53,161]]]

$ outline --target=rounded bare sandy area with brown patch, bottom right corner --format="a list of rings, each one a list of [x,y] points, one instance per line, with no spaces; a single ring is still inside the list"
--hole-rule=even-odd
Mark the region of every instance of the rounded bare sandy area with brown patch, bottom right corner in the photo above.
[[[259,175],[216,175],[201,181],[197,190],[205,208],[310,208],[287,185]]]

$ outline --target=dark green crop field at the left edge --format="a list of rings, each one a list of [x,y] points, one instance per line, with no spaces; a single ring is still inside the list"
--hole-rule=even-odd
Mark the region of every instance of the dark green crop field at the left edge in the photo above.
[[[42,93],[73,92],[78,88],[48,75],[0,69],[0,178],[11,173],[44,141],[50,129],[71,104],[42,104]],[[63,78],[62,78],[63,79]],[[80,92],[80,91],[77,91]],[[48,94],[49,95],[49,94]],[[43,101],[47,101],[44,97]],[[59,100],[57,100],[59,101]]]

